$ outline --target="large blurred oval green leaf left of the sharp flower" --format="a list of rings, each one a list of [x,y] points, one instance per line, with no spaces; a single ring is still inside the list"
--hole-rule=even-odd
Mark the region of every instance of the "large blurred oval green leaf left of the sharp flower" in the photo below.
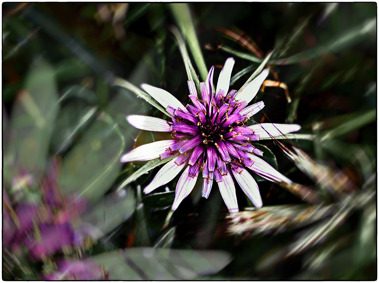
[[[116,179],[124,148],[125,139],[118,125],[102,113],[64,157],[59,172],[61,190],[96,201]]]

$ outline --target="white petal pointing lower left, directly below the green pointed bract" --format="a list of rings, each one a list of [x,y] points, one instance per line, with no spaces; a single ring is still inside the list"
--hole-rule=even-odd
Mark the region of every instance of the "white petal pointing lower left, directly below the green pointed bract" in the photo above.
[[[174,179],[176,175],[185,167],[186,162],[182,165],[177,165],[175,161],[177,158],[172,159],[171,161],[164,164],[161,170],[158,171],[157,175],[155,175],[153,181],[150,182],[149,185],[143,190],[144,193],[150,193],[153,190],[157,189],[164,184],[167,184],[169,181]]]

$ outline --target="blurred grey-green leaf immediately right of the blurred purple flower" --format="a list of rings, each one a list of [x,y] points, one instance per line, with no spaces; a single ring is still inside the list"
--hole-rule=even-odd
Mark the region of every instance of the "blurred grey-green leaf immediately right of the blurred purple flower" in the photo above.
[[[78,230],[96,241],[128,220],[135,207],[136,199],[130,189],[108,195],[81,217],[82,222]]]

